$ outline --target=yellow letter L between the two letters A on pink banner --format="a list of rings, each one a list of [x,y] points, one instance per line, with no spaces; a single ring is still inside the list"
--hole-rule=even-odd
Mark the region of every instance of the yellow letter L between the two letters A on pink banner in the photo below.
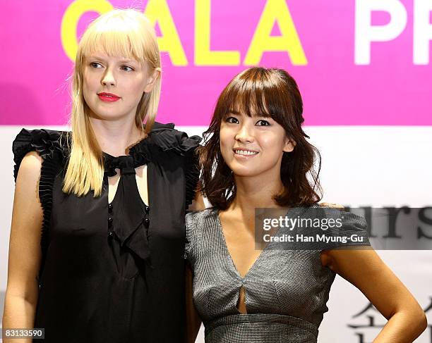
[[[196,66],[239,66],[239,51],[210,51],[210,0],[195,1]]]

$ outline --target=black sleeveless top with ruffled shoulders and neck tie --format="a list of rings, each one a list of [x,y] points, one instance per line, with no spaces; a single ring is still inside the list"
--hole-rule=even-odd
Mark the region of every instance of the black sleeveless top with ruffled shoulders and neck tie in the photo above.
[[[197,136],[155,123],[129,155],[104,154],[102,196],[62,192],[68,132],[21,130],[14,176],[42,157],[42,263],[35,328],[45,342],[183,342],[184,213],[198,183]],[[147,165],[144,204],[135,168]],[[108,204],[108,177],[120,170]]]

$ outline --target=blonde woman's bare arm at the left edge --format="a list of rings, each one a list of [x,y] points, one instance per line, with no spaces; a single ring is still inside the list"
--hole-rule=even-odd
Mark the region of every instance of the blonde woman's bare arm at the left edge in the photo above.
[[[23,158],[16,179],[3,328],[33,328],[34,325],[43,220],[39,199],[41,167],[42,158],[32,151]],[[31,339],[5,339],[4,342],[31,342]]]

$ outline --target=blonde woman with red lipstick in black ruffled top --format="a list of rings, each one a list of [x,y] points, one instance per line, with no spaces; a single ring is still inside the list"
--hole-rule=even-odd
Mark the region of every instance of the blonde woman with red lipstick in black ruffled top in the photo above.
[[[78,46],[71,132],[16,137],[4,328],[44,328],[45,342],[183,340],[200,139],[154,123],[160,74],[144,15],[101,15]]]

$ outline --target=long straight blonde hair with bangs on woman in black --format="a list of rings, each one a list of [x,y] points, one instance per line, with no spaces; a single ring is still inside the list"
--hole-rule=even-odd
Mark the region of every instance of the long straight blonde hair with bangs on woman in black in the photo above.
[[[83,96],[83,61],[97,49],[104,49],[109,56],[124,56],[147,63],[148,75],[161,67],[155,30],[143,13],[133,9],[110,11],[93,21],[84,32],[73,68],[71,154],[63,186],[63,192],[78,197],[90,190],[94,191],[94,197],[102,194],[103,156]],[[159,76],[152,91],[144,93],[138,104],[135,122],[145,133],[150,132],[155,122],[160,82]]]

